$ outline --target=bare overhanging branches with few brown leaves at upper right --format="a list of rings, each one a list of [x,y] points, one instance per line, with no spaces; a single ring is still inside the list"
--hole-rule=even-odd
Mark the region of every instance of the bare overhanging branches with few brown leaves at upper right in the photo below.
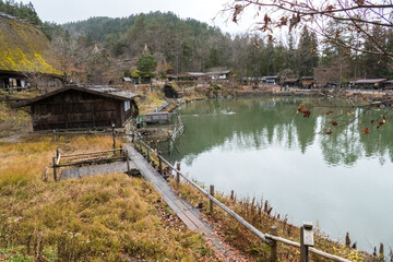
[[[393,29],[392,0],[234,0],[225,5],[223,12],[230,14],[235,23],[246,13],[254,15],[254,28],[265,33],[271,40],[274,40],[275,28],[287,27],[290,33],[302,25],[345,48],[393,58],[393,52],[371,34],[377,25]],[[331,34],[327,29],[331,22],[340,22],[345,25],[344,29]],[[342,34],[349,33],[371,41],[373,48],[365,49],[341,40]]]

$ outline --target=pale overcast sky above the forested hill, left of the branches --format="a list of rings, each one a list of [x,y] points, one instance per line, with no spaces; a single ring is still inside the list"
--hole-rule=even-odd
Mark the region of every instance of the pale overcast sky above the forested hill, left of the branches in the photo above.
[[[124,17],[131,14],[148,13],[151,11],[171,11],[181,19],[195,19],[210,25],[215,25],[228,33],[245,33],[250,25],[240,25],[227,15],[223,17],[219,11],[229,0],[22,0],[33,3],[43,21],[67,23],[86,20],[92,16]],[[217,15],[218,14],[218,15]],[[212,21],[215,16],[216,20]]]

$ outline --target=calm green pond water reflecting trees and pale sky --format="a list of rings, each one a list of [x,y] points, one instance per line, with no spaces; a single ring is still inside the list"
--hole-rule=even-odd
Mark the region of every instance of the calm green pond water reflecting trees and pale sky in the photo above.
[[[323,104],[307,98],[237,98],[204,100],[178,109],[186,129],[179,152],[167,156],[204,184],[238,196],[269,200],[273,213],[295,225],[318,223],[332,239],[344,241],[349,231],[358,249],[372,251],[380,242],[393,248],[393,126],[379,131],[369,111],[331,135],[318,134],[332,120]],[[344,114],[338,124],[362,111]],[[369,127],[370,134],[362,134]],[[388,252],[386,252],[388,250]]]

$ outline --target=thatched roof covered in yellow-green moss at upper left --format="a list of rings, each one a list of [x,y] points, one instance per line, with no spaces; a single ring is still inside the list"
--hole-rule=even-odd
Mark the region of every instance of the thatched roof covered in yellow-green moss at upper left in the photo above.
[[[50,64],[49,40],[37,27],[0,15],[0,70],[61,74]]]

